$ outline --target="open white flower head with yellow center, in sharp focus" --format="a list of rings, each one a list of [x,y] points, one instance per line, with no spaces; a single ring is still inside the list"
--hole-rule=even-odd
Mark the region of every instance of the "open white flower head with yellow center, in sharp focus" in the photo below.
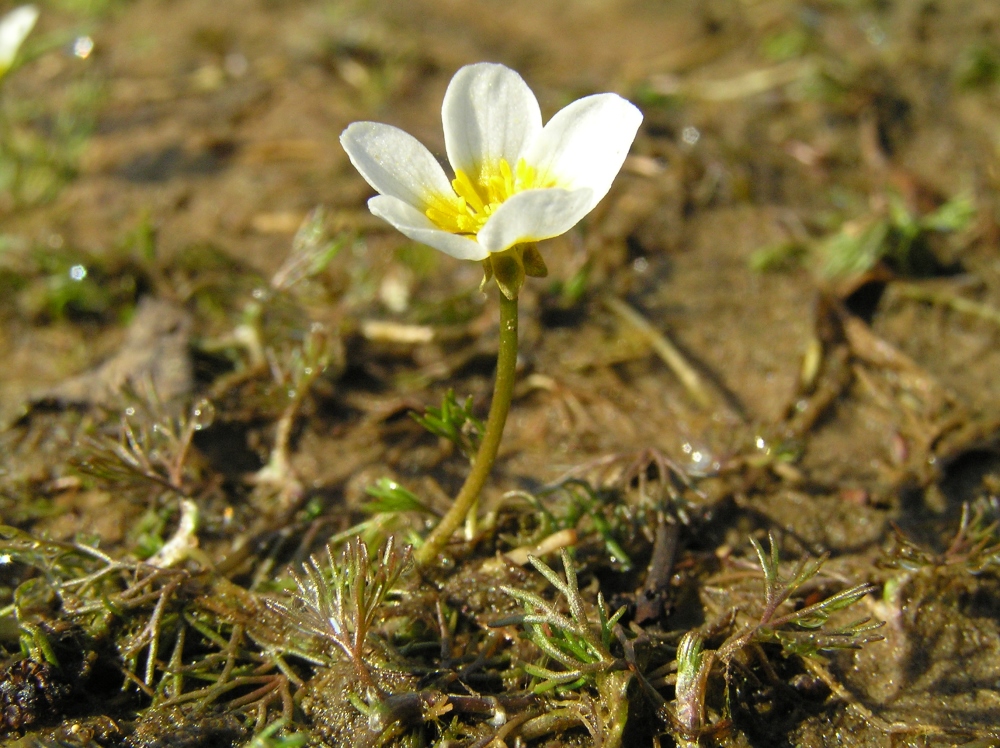
[[[462,260],[573,228],[611,188],[642,122],[635,106],[605,93],[574,101],[542,127],[521,76],[491,63],[455,73],[441,118],[451,180],[399,128],[355,122],[340,142],[379,193],[368,201],[372,213]]]

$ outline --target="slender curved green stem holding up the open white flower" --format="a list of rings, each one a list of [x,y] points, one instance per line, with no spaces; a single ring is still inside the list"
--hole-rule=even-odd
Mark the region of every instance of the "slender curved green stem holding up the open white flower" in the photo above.
[[[416,552],[414,558],[420,566],[426,566],[437,558],[437,555],[448,543],[452,533],[465,520],[472,509],[479,492],[493,469],[500,440],[503,438],[503,427],[507,423],[507,413],[510,411],[510,401],[514,395],[514,374],[517,367],[517,297],[508,299],[500,294],[500,352],[497,355],[497,380],[493,386],[493,402],[490,403],[490,415],[486,421],[486,433],[479,445],[479,451],[472,463],[472,470],[465,479],[462,490],[458,492],[448,513],[441,518],[427,541]]]

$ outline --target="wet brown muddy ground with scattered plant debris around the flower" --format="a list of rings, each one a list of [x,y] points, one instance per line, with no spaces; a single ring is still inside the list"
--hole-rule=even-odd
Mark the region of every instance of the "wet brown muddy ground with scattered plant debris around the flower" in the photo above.
[[[614,672],[641,745],[1000,740],[1000,7],[41,10],[0,90],[7,740],[614,744]],[[497,299],[478,264],[368,214],[338,137],[377,120],[443,153],[445,86],[481,60],[517,69],[546,118],[615,91],[645,120],[608,197],[542,245],[480,528],[404,576],[370,645],[392,666],[359,691],[262,601],[358,523],[373,549],[426,534],[467,462],[407,414],[452,389],[485,417]],[[327,246],[294,241],[316,206],[333,249],[290,276],[290,253]],[[366,508],[383,478],[428,513]],[[181,499],[198,547],[168,558]],[[489,628],[520,610],[497,586],[563,603],[498,554],[558,529],[588,609],[598,588],[625,607],[617,665],[532,693],[523,663],[545,658]],[[866,584],[826,625],[884,626],[727,650],[760,619],[750,538],[768,533],[783,573],[829,555],[789,609]],[[725,659],[694,717],[669,672],[690,631]],[[421,706],[361,720],[352,689]]]

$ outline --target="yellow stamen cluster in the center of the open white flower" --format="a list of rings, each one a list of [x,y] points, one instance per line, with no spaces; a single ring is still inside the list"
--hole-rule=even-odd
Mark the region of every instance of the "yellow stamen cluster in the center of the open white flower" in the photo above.
[[[524,190],[555,187],[551,177],[540,175],[524,159],[510,168],[507,159],[486,164],[472,179],[461,169],[455,171],[451,181],[454,195],[435,195],[428,201],[425,215],[442,231],[452,234],[475,236],[500,205],[511,195]]]

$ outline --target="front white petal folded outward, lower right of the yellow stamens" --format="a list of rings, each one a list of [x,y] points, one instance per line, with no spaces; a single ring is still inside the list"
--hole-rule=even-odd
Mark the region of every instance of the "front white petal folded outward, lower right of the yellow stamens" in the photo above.
[[[503,252],[521,242],[549,239],[573,228],[592,205],[592,193],[586,187],[525,190],[497,208],[476,239],[490,252]]]

